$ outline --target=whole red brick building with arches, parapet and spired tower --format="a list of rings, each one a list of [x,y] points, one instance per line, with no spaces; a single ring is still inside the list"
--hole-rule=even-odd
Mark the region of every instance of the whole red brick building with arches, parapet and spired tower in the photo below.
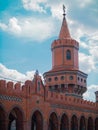
[[[0,130],[98,130],[96,102],[83,99],[87,74],[79,70],[79,43],[72,39],[65,18],[51,45],[52,69],[38,71],[32,81],[0,80]]]

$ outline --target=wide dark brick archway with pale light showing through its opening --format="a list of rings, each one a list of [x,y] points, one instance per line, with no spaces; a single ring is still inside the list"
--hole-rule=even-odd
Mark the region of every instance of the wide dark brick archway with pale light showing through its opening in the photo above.
[[[23,121],[24,121],[24,112],[20,106],[14,105],[11,107],[8,114],[8,130],[11,130],[15,127],[16,130],[24,130]]]

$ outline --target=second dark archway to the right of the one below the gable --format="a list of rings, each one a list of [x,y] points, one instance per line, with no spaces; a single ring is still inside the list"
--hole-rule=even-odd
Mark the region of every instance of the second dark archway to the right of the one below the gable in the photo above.
[[[61,116],[60,130],[69,130],[69,118],[65,113]]]

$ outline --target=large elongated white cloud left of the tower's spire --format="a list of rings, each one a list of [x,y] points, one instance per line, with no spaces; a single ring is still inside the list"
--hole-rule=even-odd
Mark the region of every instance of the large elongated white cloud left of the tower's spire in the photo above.
[[[16,37],[43,41],[56,33],[56,25],[50,18],[16,18],[9,19],[8,24],[0,23],[2,29]]]

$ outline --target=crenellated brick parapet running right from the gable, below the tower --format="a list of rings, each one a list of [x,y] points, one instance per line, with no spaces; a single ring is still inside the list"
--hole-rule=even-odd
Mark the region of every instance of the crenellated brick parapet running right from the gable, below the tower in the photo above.
[[[64,93],[57,92],[47,92],[46,100],[55,102],[57,104],[71,105],[81,108],[97,109],[98,105],[95,102],[87,101],[81,98],[76,98],[72,96],[66,96]]]

